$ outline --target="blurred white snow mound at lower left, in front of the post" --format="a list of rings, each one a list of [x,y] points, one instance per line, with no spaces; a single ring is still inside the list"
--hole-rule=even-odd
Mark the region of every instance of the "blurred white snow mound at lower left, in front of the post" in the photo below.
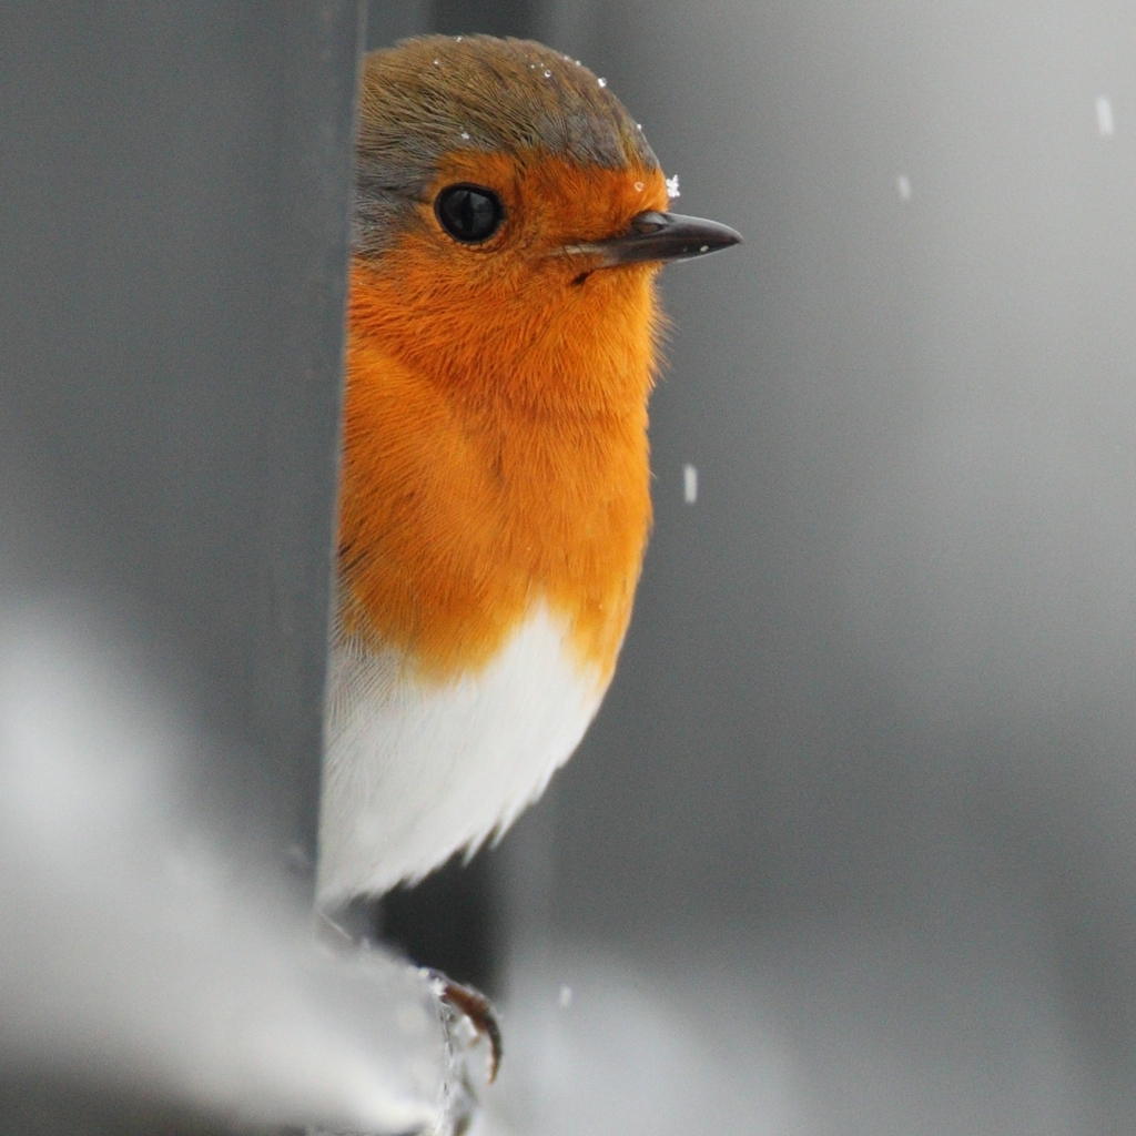
[[[178,795],[191,742],[90,635],[0,611],[0,1061],[257,1122],[435,1127],[428,983],[318,947],[299,897],[234,870]]]

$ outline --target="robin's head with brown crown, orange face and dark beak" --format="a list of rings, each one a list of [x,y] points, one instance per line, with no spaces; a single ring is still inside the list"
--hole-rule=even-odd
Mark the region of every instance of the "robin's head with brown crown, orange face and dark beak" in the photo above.
[[[526,401],[561,389],[560,371],[588,385],[584,359],[619,370],[630,350],[650,369],[654,272],[740,240],[667,204],[641,127],[578,62],[490,36],[376,51],[360,93],[352,328],[448,385],[511,383]]]

